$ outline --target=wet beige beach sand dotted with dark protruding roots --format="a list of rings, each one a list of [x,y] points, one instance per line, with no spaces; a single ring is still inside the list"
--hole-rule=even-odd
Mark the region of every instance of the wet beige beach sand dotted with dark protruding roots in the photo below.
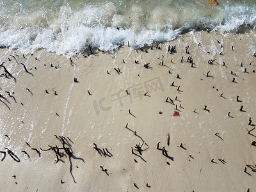
[[[169,45],[176,52],[170,54]],[[113,54],[94,50],[90,56],[72,56],[72,63],[69,56],[46,50],[24,58],[19,51],[1,49],[1,63],[15,79],[0,78],[0,150],[7,147],[20,162],[0,153],[0,191],[256,191],[255,167],[246,166],[255,166],[256,158],[251,145],[256,130],[247,133],[254,127],[248,125],[250,117],[256,124],[256,32],[186,33],[160,47],[146,52],[124,46]],[[147,63],[149,68],[143,67]],[[68,157],[60,150],[64,156],[58,163],[53,150],[40,150],[62,147],[54,134],[68,137],[73,151]],[[131,147],[143,141],[142,155],[132,154]],[[156,149],[158,142],[168,157]],[[113,156],[100,154],[93,143]]]

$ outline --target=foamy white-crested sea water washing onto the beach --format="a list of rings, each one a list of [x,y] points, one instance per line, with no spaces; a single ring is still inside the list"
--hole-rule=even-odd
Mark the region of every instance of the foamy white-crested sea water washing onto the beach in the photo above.
[[[115,51],[173,40],[191,30],[255,29],[255,0],[0,0],[0,46],[57,54]]]

